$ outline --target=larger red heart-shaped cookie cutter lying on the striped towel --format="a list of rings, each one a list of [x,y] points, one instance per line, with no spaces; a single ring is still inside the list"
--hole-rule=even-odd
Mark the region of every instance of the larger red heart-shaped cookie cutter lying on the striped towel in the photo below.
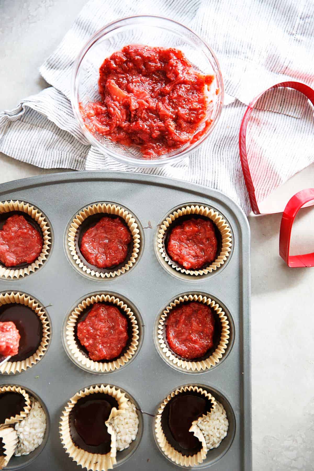
[[[256,102],[258,101],[258,99],[262,95],[264,95],[264,93],[266,93],[268,90],[276,89],[276,88],[279,88],[279,87],[287,87],[287,88],[292,88],[292,89],[300,91],[314,105],[314,90],[311,89],[311,87],[308,87],[307,85],[305,85],[304,83],[292,82],[291,81],[291,82],[277,83],[273,87],[270,87],[269,89],[264,90],[257,97],[255,97],[251,101],[250,105],[248,106],[248,108],[247,108],[247,110],[246,110],[246,112],[243,116],[242,122],[241,122],[240,133],[239,133],[239,149],[240,149],[240,159],[241,159],[244,179],[245,179],[246,187],[248,189],[249,196],[250,196],[251,208],[252,208],[252,211],[254,211],[255,214],[262,214],[262,213],[258,209],[258,202],[257,202],[256,195],[255,195],[255,188],[254,188],[253,180],[252,180],[252,177],[251,177],[251,174],[250,174],[248,156],[247,156],[247,151],[246,151],[246,129],[247,129],[248,121],[250,119],[250,115],[251,115],[252,110],[255,107]],[[293,265],[293,266],[303,267],[303,266],[307,266],[307,265]]]

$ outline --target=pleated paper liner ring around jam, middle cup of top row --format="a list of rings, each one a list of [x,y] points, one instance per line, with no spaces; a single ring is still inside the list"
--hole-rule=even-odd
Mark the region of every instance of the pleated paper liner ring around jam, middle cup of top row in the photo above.
[[[112,271],[105,273],[97,271],[97,267],[95,267],[95,270],[90,269],[85,264],[85,261],[82,258],[81,254],[77,253],[75,247],[75,237],[82,222],[89,216],[99,213],[104,213],[104,216],[106,214],[114,214],[116,216],[120,216],[122,219],[125,220],[133,238],[133,250],[131,256],[126,261],[125,265],[118,269],[113,268]],[[80,211],[71,222],[67,238],[70,253],[75,263],[78,265],[79,268],[81,268],[83,272],[90,274],[91,276],[96,276],[97,278],[110,278],[114,276],[119,276],[128,271],[135,264],[140,247],[140,233],[135,217],[124,208],[121,208],[120,206],[111,203],[95,203],[92,206],[87,206],[82,211]]]

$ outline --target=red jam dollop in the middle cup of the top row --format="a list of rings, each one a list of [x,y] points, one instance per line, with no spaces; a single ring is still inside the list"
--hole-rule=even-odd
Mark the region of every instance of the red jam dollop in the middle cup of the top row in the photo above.
[[[111,268],[126,259],[131,240],[129,227],[121,219],[104,216],[84,233],[80,250],[91,265]]]

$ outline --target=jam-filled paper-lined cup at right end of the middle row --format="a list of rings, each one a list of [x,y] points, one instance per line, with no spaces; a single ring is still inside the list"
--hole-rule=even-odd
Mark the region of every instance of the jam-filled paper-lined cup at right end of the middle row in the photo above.
[[[193,341],[186,338],[185,331],[193,331]],[[218,301],[205,293],[186,292],[173,298],[157,316],[154,340],[168,365],[185,373],[204,373],[229,353],[233,322]]]

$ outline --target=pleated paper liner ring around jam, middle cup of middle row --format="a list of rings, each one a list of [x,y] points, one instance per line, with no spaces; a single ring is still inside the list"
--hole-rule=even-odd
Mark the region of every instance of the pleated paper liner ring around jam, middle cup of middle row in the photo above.
[[[114,361],[102,363],[99,361],[91,360],[90,358],[86,357],[80,350],[79,346],[76,343],[75,336],[74,336],[74,328],[75,325],[81,315],[81,313],[89,307],[90,305],[96,302],[108,302],[118,306],[122,309],[125,314],[129,317],[129,321],[132,325],[132,340],[129,345],[128,350],[119,358]],[[133,357],[137,350],[138,346],[138,325],[137,319],[134,316],[131,309],[123,303],[119,298],[115,298],[114,296],[110,296],[109,294],[97,294],[96,296],[91,296],[83,300],[71,313],[69,320],[66,324],[66,342],[68,348],[71,351],[72,356],[78,361],[81,365],[89,368],[92,372],[102,372],[106,373],[109,371],[114,371],[119,369],[121,366],[128,363],[128,361]]]

